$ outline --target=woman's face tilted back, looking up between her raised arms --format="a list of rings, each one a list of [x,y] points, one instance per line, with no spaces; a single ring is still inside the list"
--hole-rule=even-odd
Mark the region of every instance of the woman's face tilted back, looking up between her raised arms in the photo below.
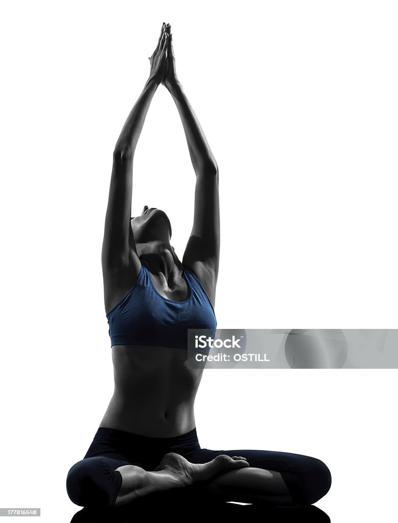
[[[131,228],[135,242],[145,243],[150,240],[169,241],[172,225],[167,214],[156,207],[144,206],[139,216],[131,218]]]

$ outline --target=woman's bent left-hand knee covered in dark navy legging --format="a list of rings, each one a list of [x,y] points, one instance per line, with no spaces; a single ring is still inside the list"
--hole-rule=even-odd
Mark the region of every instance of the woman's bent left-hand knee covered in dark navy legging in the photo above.
[[[71,501],[81,507],[113,506],[122,481],[114,467],[103,456],[75,463],[66,478],[66,491]]]

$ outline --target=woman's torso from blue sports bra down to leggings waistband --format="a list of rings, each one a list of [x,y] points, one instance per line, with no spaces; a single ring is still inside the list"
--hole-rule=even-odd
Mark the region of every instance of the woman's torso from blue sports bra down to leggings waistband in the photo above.
[[[194,403],[203,369],[188,364],[184,328],[210,325],[215,317],[199,280],[191,272],[184,275],[186,291],[181,286],[166,299],[142,264],[133,287],[107,313],[112,343],[130,337],[134,343],[112,345],[115,390],[100,427],[152,437],[178,436],[195,428]],[[166,332],[171,334],[162,338]],[[140,343],[146,336],[145,344]],[[168,344],[162,345],[162,339]],[[179,346],[170,346],[173,340]]]

